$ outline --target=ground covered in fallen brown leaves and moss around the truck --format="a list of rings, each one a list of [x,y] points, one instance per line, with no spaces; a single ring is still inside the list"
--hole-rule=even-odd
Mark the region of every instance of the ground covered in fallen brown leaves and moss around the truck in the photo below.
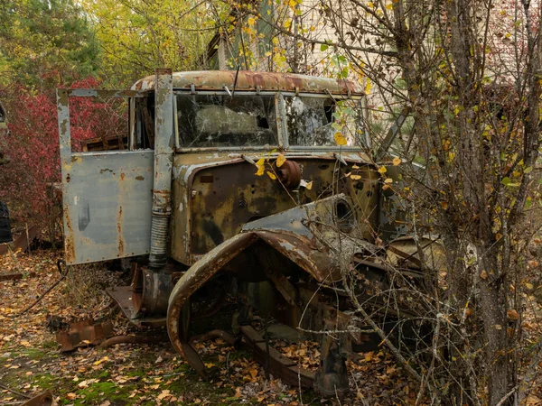
[[[322,400],[313,391],[301,392],[273,377],[267,380],[251,353],[220,339],[198,344],[210,368],[209,382],[203,382],[168,342],[107,349],[82,346],[61,353],[54,323],[48,326],[51,317],[110,319],[117,335],[157,337],[166,332],[139,330],[110,306],[103,289],[129,282],[123,280],[122,272],[108,271],[110,264],[70,268],[68,277],[51,293],[19,314],[59,279],[58,259],[60,254],[53,251],[0,257],[0,273],[23,274],[17,281],[0,281],[0,404],[22,404],[44,391],[50,391],[60,405],[392,405],[416,401],[416,384],[383,350],[350,362],[350,396],[341,403]],[[277,349],[304,367],[315,369],[319,364],[315,343],[278,343]]]

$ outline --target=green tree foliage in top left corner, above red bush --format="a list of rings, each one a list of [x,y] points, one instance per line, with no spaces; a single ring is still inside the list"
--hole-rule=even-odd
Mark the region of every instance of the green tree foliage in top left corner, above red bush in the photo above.
[[[0,21],[3,85],[51,88],[98,69],[98,43],[72,0],[9,1]]]

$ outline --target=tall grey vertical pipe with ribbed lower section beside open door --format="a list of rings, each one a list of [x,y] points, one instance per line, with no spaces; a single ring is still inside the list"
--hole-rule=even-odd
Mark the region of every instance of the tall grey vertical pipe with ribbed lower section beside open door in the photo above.
[[[149,268],[160,271],[167,263],[169,220],[172,213],[173,78],[172,69],[155,69],[154,186]]]

